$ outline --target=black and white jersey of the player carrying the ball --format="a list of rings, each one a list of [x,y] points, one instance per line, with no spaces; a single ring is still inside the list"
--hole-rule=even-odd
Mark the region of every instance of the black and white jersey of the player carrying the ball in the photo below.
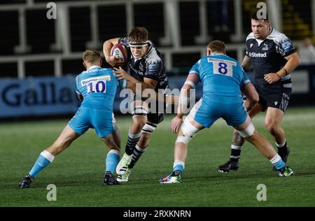
[[[159,89],[167,88],[168,79],[162,54],[151,41],[148,41],[149,48],[146,55],[137,60],[132,56],[129,39],[127,37],[120,38],[118,42],[123,43],[127,48],[128,66],[132,77],[140,81],[144,81],[144,78],[157,80],[158,84],[155,87],[155,91],[157,92]]]

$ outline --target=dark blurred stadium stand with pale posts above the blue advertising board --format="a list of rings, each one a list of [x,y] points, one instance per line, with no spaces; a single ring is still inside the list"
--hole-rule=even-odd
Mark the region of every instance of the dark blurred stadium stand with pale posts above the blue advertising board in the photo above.
[[[214,31],[211,0],[54,2],[56,20],[46,17],[48,1],[0,2],[1,78],[74,76],[83,70],[80,56],[86,48],[102,50],[104,40],[125,36],[134,26],[149,30],[149,38],[165,57],[171,77],[185,76],[190,66],[205,55],[204,45],[211,39],[225,41],[228,55],[241,60],[245,38],[251,32],[248,17],[260,1],[229,0],[226,32]],[[272,25],[297,47],[307,36],[315,41],[315,0],[266,3]],[[307,67],[307,76],[297,79],[302,85],[309,85],[309,90],[297,94],[298,99],[293,97],[292,104],[304,102],[304,94],[314,92],[312,69]],[[312,96],[305,99],[315,103]]]

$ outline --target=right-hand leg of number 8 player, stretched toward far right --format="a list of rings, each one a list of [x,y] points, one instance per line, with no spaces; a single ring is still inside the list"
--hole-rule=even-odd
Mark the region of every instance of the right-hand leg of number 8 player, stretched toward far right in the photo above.
[[[286,163],[283,162],[281,157],[276,153],[269,141],[255,130],[255,127],[251,122],[251,117],[247,116],[245,122],[235,126],[235,129],[239,131],[239,134],[245,138],[246,141],[255,145],[264,157],[269,159],[269,162],[271,162],[276,167],[276,170],[280,172],[279,176],[290,176],[293,174],[292,169],[286,166]]]

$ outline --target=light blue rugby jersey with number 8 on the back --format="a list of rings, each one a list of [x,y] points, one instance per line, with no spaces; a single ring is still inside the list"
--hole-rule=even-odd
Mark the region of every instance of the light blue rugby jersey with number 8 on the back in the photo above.
[[[199,76],[204,97],[220,95],[241,99],[241,88],[251,82],[241,64],[226,55],[202,57],[189,74]]]

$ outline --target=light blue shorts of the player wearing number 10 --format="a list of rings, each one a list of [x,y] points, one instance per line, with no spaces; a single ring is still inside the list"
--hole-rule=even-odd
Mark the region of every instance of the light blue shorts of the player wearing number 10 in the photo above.
[[[94,128],[99,137],[106,137],[117,129],[112,112],[85,107],[78,108],[68,124],[78,134],[84,134],[87,129]]]

